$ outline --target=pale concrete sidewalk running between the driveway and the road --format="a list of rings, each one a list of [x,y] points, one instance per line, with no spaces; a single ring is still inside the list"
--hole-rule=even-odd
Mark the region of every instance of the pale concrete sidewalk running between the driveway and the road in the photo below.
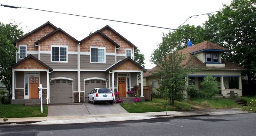
[[[241,113],[247,113],[247,112],[238,110],[238,108],[228,108],[228,109],[211,109],[211,110],[194,110],[194,111],[167,111],[167,116],[166,116],[166,112],[147,112],[147,113],[108,114],[108,115],[8,118],[7,122],[11,123],[11,122],[40,121],[32,124],[48,125],[48,124],[74,124],[74,123],[143,120],[143,119],[152,119],[152,118],[159,118],[159,117],[227,115],[227,114],[241,114]],[[0,122],[3,123],[3,119],[0,119]],[[15,125],[18,125],[18,124],[15,124]],[[4,126],[4,125],[0,125],[0,126]]]

